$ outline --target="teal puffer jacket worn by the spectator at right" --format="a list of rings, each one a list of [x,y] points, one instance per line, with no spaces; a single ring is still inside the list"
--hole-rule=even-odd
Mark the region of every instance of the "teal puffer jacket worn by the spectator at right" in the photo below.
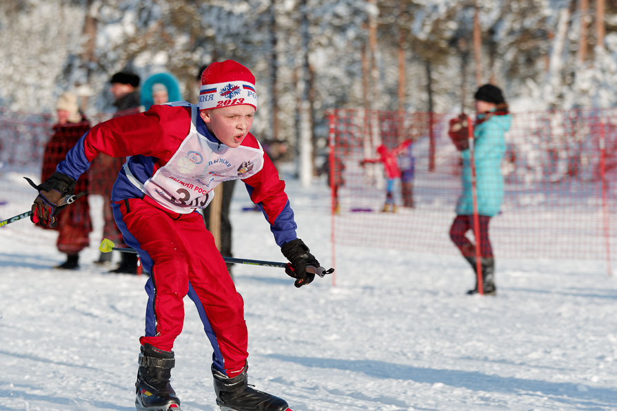
[[[487,114],[480,114],[479,124],[474,125],[478,214],[488,217],[497,215],[503,203],[503,176],[501,175],[501,160],[505,155],[503,135],[512,123],[512,116],[499,114],[490,114],[485,121],[482,119]],[[461,155],[463,156],[463,195],[456,204],[456,214],[472,215],[474,199],[469,149],[463,150]]]

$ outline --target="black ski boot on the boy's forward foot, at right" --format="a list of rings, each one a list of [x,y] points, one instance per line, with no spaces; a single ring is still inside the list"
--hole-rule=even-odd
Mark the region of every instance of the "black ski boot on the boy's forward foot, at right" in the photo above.
[[[247,369],[248,364],[240,375],[230,378],[212,366],[216,405],[221,407],[221,411],[292,411],[287,401],[250,388]]]

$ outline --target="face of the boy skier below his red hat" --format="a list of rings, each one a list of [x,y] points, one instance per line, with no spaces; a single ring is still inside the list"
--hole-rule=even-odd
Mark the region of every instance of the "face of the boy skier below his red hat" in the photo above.
[[[236,148],[249,133],[253,125],[255,109],[241,104],[230,107],[203,110],[201,118],[210,133],[214,134],[227,147]]]

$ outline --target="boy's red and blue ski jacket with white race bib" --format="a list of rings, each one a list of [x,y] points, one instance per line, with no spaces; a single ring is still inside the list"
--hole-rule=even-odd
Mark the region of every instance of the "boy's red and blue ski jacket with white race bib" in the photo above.
[[[179,181],[174,176],[167,176],[186,188],[182,191],[185,191],[188,197],[180,200],[171,197],[176,205],[187,207],[186,211],[181,212],[193,212],[195,209],[204,208],[212,200],[214,193],[212,190],[216,185],[225,180],[241,179],[252,202],[259,206],[270,223],[276,244],[282,246],[296,239],[297,226],[294,212],[285,193],[285,182],[279,179],[278,171],[256,138],[248,134],[240,147],[235,149],[227,147],[210,134],[201,117],[195,113],[199,113],[199,107],[186,102],[177,102],[170,105],[153,105],[148,112],[112,118],[99,123],[81,137],[77,145],[68,152],[65,160],[59,163],[56,171],[77,180],[88,170],[90,162],[99,153],[112,157],[127,157],[127,162],[114,184],[111,200],[143,198],[148,195],[163,207],[170,208],[168,207],[170,204],[165,205],[161,198],[156,198],[144,190],[143,186],[152,185],[156,171],[168,165],[168,162],[181,160],[192,167],[187,179],[194,184]],[[195,130],[197,137],[194,134]],[[202,152],[189,151],[190,156],[179,158],[177,154],[183,154],[182,150],[185,149],[183,146],[188,143],[191,135],[193,140],[195,138],[202,140]],[[239,149],[242,150],[238,151]],[[239,155],[239,153],[246,154]],[[243,156],[248,160],[235,164]],[[164,176],[158,178],[164,180]],[[171,180],[169,182],[173,183]],[[195,200],[187,205],[182,200],[190,196]],[[205,201],[201,201],[203,199]],[[192,207],[193,205],[195,207]]]

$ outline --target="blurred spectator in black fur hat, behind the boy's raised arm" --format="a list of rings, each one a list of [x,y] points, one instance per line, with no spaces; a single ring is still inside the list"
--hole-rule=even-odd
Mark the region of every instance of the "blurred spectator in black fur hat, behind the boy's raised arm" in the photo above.
[[[110,91],[114,95],[114,106],[117,108],[115,117],[136,114],[141,111],[141,100],[139,98],[140,78],[133,72],[117,72],[110,78]],[[111,207],[112,187],[125,158],[113,158],[106,154],[99,154],[90,166],[90,192],[103,196],[103,238],[112,240],[117,246],[125,247],[122,234],[116,226]],[[112,262],[112,253],[101,253],[99,260],[94,264],[109,266]],[[131,253],[121,253],[120,265],[110,273],[137,273],[137,255]]]

